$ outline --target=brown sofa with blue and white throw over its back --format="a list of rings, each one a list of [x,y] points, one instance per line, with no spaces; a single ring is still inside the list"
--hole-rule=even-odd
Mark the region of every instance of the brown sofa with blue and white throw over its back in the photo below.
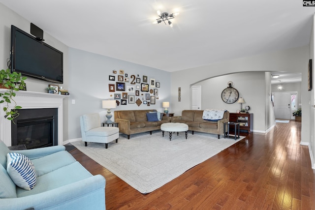
[[[209,121],[202,119],[203,110],[183,110],[182,116],[172,117],[172,122],[183,122],[189,126],[189,130],[200,131],[205,133],[218,134],[218,139],[220,139],[220,134],[223,132],[223,122],[229,121],[229,112],[225,112],[222,120]]]

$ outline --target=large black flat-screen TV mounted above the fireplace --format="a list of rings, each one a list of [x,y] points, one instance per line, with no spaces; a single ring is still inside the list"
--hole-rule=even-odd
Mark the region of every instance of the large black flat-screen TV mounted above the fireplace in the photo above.
[[[63,52],[12,25],[11,70],[33,78],[63,83]]]

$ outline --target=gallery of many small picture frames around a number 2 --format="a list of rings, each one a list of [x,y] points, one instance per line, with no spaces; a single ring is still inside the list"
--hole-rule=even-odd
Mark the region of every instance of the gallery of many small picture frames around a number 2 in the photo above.
[[[108,91],[114,93],[117,106],[137,104],[150,106],[156,104],[160,83],[146,75],[128,75],[125,70],[113,70],[108,76]]]

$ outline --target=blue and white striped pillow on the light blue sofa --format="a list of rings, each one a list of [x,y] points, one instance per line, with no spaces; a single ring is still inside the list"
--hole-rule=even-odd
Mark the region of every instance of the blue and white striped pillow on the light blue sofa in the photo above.
[[[19,187],[31,190],[36,184],[36,172],[32,161],[25,155],[10,152],[6,154],[6,171]]]

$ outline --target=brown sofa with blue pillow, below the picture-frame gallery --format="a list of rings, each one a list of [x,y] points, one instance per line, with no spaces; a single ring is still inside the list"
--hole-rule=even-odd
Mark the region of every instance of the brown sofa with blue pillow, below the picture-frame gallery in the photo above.
[[[114,111],[115,122],[119,122],[119,132],[127,135],[130,139],[130,134],[142,133],[153,130],[159,130],[160,125],[169,122],[169,117],[163,116],[160,121],[148,121],[147,114],[156,110],[119,110]]]

